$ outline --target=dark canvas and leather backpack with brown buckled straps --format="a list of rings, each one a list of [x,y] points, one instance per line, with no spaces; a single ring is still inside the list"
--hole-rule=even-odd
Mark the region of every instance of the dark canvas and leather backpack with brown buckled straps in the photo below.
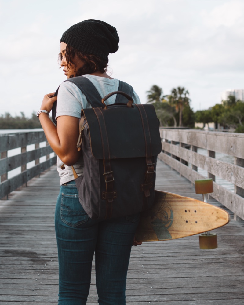
[[[79,120],[77,148],[84,173],[78,177],[74,172],[84,210],[92,219],[105,220],[149,209],[162,150],[154,106],[134,104],[133,88],[125,82],[102,99],[87,78],[66,81],[75,83],[92,106],[82,109]],[[114,94],[115,103],[106,105]]]

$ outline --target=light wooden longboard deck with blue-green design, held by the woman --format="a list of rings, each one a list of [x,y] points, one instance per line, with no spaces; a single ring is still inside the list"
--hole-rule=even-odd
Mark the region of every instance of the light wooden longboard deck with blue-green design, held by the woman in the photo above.
[[[230,220],[228,212],[200,200],[155,191],[154,205],[141,212],[137,241],[182,238],[222,227]]]

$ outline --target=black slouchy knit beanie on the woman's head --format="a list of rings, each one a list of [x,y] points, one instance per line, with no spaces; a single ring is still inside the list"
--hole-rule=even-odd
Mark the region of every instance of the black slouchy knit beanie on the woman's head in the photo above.
[[[60,42],[82,53],[108,60],[108,54],[118,50],[119,37],[115,27],[104,21],[88,19],[72,25],[64,32]]]

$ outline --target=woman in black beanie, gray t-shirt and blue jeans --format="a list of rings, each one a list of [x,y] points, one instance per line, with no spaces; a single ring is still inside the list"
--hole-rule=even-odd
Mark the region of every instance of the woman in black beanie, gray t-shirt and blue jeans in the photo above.
[[[118,79],[107,73],[108,54],[118,50],[115,27],[85,20],[70,27],[60,40],[60,65],[67,78],[88,78],[102,97],[118,90]],[[38,117],[53,151],[57,154],[60,194],[55,212],[59,257],[59,305],[81,305],[87,301],[91,266],[95,252],[96,285],[100,305],[124,305],[126,275],[131,245],[139,214],[105,221],[92,220],[78,200],[71,165],[78,176],[83,173],[82,157],[77,151],[78,121],[81,109],[91,107],[72,82],[60,85],[58,97],[44,96]],[[57,100],[57,127],[49,112]],[[133,93],[135,103],[139,97]],[[107,100],[115,102],[115,95]]]

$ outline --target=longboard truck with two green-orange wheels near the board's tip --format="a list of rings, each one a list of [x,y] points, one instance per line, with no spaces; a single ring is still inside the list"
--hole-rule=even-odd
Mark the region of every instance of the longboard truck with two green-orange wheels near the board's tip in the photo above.
[[[195,191],[196,194],[202,194],[202,201],[208,202],[207,194],[213,193],[213,179],[199,179],[195,180]],[[199,235],[199,246],[200,249],[215,249],[218,247],[217,234],[202,233]]]

